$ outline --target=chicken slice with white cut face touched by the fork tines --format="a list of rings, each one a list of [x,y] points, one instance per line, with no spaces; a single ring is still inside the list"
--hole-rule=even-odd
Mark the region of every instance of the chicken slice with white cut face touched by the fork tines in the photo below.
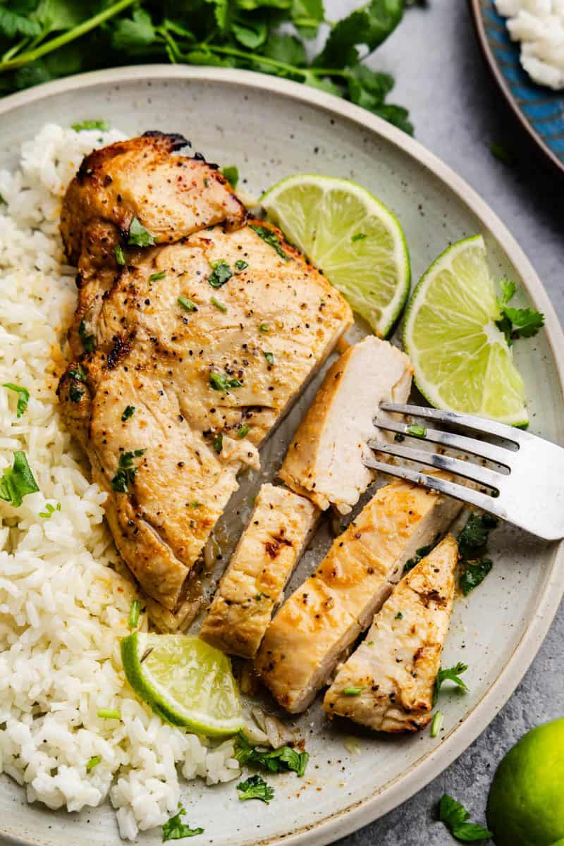
[[[348,349],[298,426],[281,479],[319,508],[348,514],[375,477],[363,464],[366,442],[376,434],[372,420],[383,400],[406,402],[412,375],[408,356],[374,335]]]

